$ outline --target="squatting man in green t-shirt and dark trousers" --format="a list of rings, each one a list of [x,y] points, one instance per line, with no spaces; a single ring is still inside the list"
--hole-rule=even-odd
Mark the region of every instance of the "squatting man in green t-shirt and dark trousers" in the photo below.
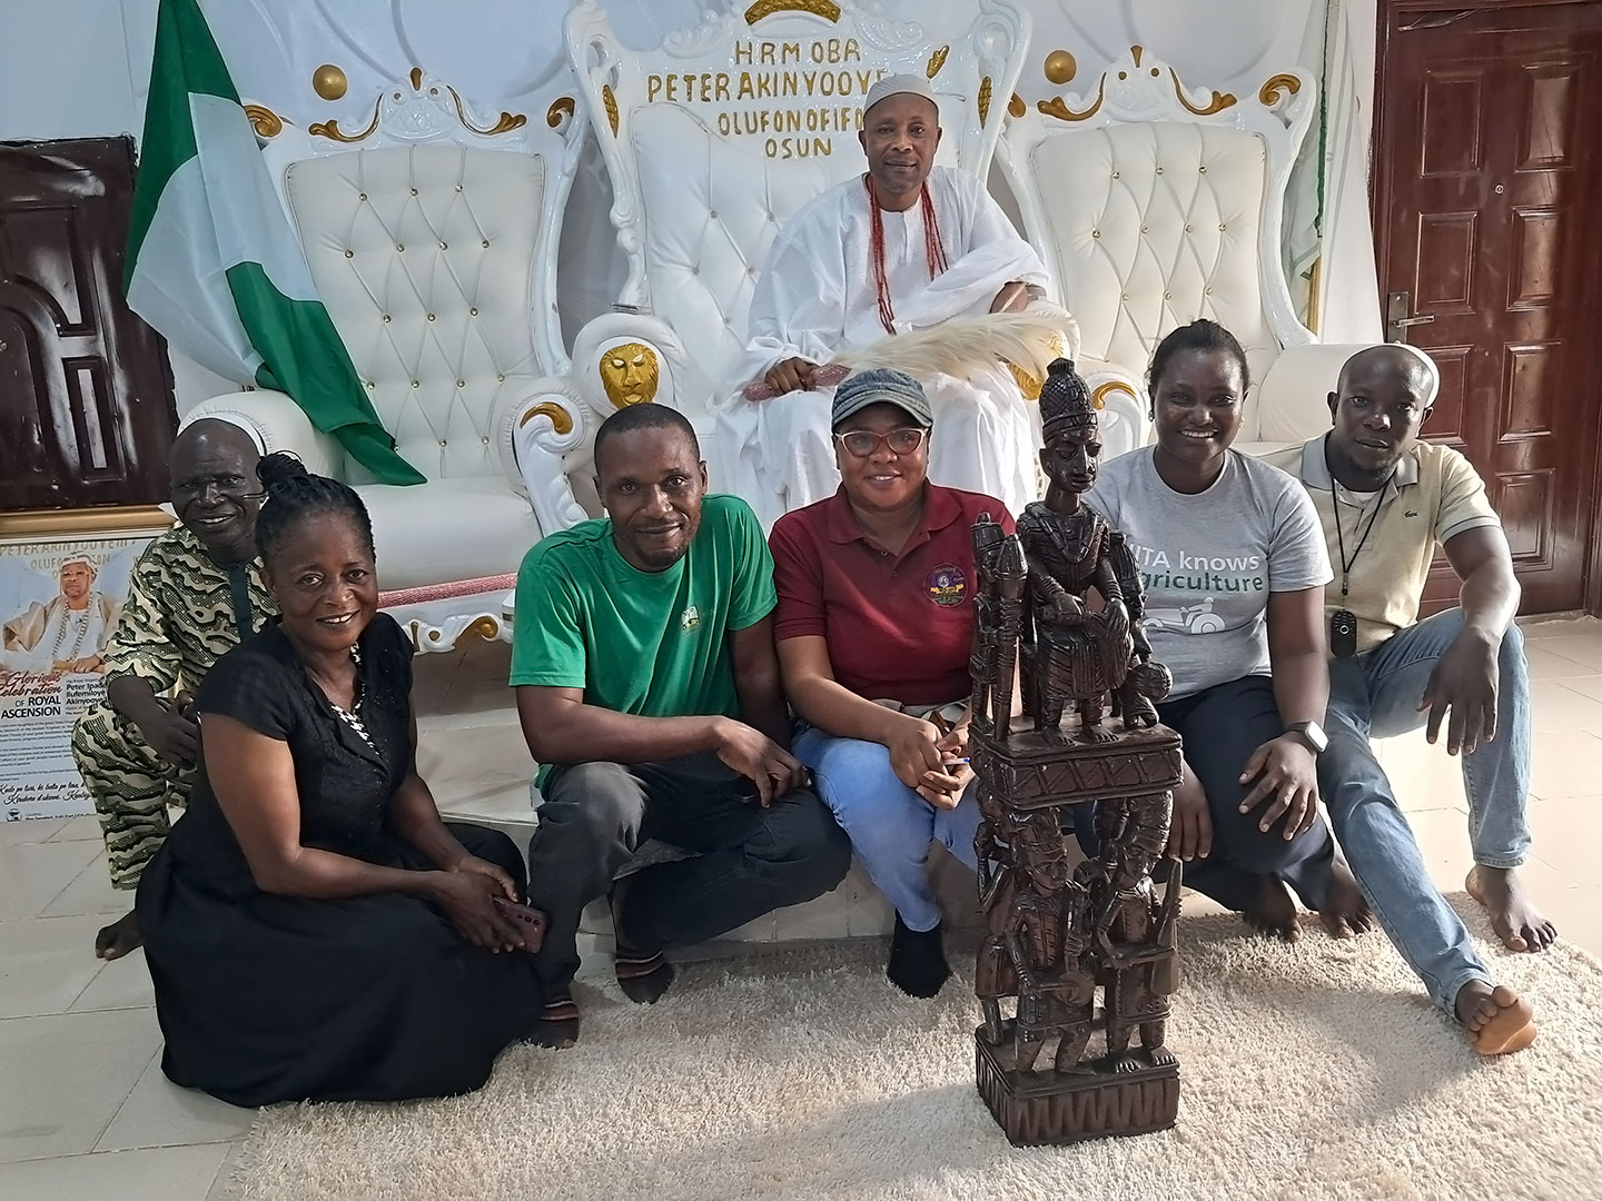
[[[779,687],[774,560],[737,496],[706,495],[695,431],[663,405],[596,432],[607,517],[553,533],[517,572],[511,684],[543,764],[530,903],[549,927],[541,1041],[578,1036],[583,906],[612,895],[617,977],[636,1001],[697,943],[839,884],[851,844],[801,788]],[[647,837],[690,858],[614,886]]]

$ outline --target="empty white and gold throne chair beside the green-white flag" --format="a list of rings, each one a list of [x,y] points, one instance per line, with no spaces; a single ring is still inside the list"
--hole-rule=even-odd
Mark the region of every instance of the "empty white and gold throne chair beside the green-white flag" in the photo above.
[[[375,484],[282,392],[218,396],[184,421],[245,424],[268,450],[356,487],[380,604],[418,650],[509,641],[524,552],[599,512],[590,445],[612,399],[599,378],[569,375],[557,317],[557,242],[588,136],[572,85],[557,72],[537,98],[546,107],[482,115],[413,69],[362,130],[247,107],[367,397],[428,482]],[[638,373],[610,383],[618,404],[642,391]]]

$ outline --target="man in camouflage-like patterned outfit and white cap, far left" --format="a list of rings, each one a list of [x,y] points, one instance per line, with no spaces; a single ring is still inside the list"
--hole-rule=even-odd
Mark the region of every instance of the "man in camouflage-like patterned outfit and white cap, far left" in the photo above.
[[[178,524],[135,564],[104,653],[106,701],[72,730],[72,757],[99,812],[112,887],[138,887],[167,837],[167,807],[189,801],[200,749],[189,693],[277,613],[256,557],[258,460],[250,436],[227,421],[195,421],[173,442]],[[117,959],[138,945],[130,910],[96,935],[95,954]]]

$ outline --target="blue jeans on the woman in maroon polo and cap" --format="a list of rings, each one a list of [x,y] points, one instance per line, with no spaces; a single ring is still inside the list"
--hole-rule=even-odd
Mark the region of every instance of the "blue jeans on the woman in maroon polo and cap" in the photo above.
[[[835,738],[815,727],[796,738],[795,756],[812,769],[817,794],[907,929],[939,926],[940,906],[929,887],[929,842],[937,839],[969,868],[976,866],[980,815],[974,788],[969,785],[956,809],[936,809],[897,778],[884,746]]]

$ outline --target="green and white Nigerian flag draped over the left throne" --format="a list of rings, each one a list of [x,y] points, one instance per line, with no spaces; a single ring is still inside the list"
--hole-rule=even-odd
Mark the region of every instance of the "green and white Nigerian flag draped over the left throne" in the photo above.
[[[123,290],[195,362],[288,392],[378,482],[423,482],[317,299],[195,0],[160,0]]]

